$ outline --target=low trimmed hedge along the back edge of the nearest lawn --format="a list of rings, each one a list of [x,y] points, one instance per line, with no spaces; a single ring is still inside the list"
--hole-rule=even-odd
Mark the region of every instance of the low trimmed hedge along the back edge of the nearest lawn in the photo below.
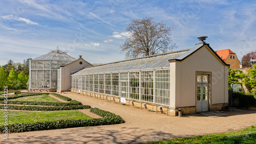
[[[72,110],[72,109],[89,109],[89,105],[76,105],[76,106],[54,106],[54,107],[40,107],[40,106],[15,106],[8,105],[8,109],[14,110],[41,110],[41,111],[53,111],[53,110]],[[0,109],[5,109],[4,105],[0,105]]]

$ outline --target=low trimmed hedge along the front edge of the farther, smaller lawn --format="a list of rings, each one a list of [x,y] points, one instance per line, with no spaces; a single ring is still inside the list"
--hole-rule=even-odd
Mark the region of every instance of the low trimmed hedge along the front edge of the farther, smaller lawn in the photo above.
[[[5,101],[0,101],[0,104],[5,104]],[[71,100],[69,103],[56,103],[56,102],[31,102],[31,101],[8,101],[8,104],[14,105],[39,105],[39,106],[74,106],[82,105],[81,102]]]

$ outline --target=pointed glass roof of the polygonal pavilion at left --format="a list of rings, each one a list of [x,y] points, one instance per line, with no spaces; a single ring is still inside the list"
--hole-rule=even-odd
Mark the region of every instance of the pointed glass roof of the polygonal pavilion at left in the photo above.
[[[73,58],[67,54],[67,52],[61,52],[59,50],[51,51],[48,54],[42,55],[40,57],[34,58],[32,60],[60,60],[60,61],[75,61],[76,58]]]

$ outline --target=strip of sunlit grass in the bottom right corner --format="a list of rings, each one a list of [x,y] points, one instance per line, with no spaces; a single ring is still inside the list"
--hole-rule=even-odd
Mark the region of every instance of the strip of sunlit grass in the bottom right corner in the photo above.
[[[173,138],[147,143],[256,143],[256,126],[235,132]]]

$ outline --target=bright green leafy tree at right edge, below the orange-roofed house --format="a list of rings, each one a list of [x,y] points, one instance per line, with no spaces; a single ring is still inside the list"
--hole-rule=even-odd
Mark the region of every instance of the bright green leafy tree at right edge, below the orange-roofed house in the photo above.
[[[243,83],[250,92],[256,93],[256,64],[247,69]]]

